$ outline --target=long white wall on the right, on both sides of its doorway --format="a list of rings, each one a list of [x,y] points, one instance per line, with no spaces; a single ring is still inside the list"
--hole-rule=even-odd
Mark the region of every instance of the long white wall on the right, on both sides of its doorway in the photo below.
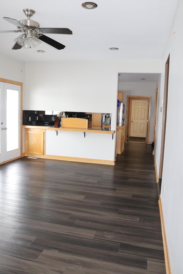
[[[170,53],[168,82],[168,105],[164,164],[162,174],[161,199],[164,213],[166,236],[172,274],[183,273],[183,0],[179,1],[178,9],[172,25],[168,43],[163,57],[163,67]],[[174,31],[176,28],[176,38]],[[156,143],[160,143],[160,121],[164,87],[164,76],[161,79],[158,130]],[[155,144],[156,145],[156,144]],[[156,162],[159,162],[160,150],[155,148]]]

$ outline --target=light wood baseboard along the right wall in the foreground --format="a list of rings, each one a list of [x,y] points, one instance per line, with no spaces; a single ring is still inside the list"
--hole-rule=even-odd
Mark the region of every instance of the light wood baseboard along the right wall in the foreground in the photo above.
[[[168,253],[168,243],[167,243],[167,239],[166,239],[166,231],[165,231],[165,224],[164,224],[164,217],[163,217],[161,195],[158,200],[158,204],[159,204],[159,209],[160,209],[160,219],[161,219],[161,229],[162,229],[162,237],[163,237],[163,248],[164,248],[164,256],[165,256],[166,274],[171,274],[170,259],[169,259],[169,253]]]

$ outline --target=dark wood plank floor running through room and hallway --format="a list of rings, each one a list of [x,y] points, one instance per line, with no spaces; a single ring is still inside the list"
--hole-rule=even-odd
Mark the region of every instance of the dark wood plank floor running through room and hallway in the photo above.
[[[0,273],[166,273],[151,145],[126,143],[115,166],[3,164],[0,207]]]

